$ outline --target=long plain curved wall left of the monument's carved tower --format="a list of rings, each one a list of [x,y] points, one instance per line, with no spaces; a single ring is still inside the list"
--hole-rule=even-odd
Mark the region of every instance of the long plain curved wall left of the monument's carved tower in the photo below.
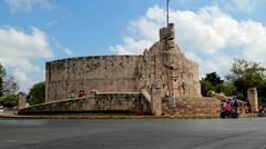
[[[134,80],[141,56],[100,56],[47,62],[45,101],[70,98],[72,90],[137,92]]]

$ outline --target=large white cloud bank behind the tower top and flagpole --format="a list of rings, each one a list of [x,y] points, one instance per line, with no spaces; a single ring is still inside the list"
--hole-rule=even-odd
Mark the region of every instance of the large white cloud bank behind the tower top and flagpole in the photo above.
[[[233,58],[266,63],[266,27],[262,22],[234,19],[217,6],[198,11],[171,10],[170,20],[175,23],[176,42],[187,57],[200,63],[202,74],[227,73]],[[142,53],[158,40],[158,29],[163,26],[165,11],[154,6],[131,21],[124,43],[110,49],[116,53]]]

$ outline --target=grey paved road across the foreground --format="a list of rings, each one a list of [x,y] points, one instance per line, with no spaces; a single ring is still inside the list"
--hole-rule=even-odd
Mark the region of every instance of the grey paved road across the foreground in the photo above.
[[[266,119],[0,120],[1,149],[266,149]]]

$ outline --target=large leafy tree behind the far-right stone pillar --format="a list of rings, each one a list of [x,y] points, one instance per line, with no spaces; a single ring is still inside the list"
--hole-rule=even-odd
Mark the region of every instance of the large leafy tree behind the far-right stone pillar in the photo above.
[[[235,59],[226,79],[234,83],[239,97],[246,98],[248,88],[259,89],[265,85],[265,68],[257,62]]]

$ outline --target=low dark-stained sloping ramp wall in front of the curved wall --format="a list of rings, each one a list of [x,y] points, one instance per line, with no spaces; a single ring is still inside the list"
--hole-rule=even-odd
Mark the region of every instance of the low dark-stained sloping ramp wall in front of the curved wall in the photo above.
[[[19,113],[104,112],[115,110],[136,115],[151,115],[150,103],[139,92],[95,92],[85,98],[55,100],[28,107],[20,109]]]

